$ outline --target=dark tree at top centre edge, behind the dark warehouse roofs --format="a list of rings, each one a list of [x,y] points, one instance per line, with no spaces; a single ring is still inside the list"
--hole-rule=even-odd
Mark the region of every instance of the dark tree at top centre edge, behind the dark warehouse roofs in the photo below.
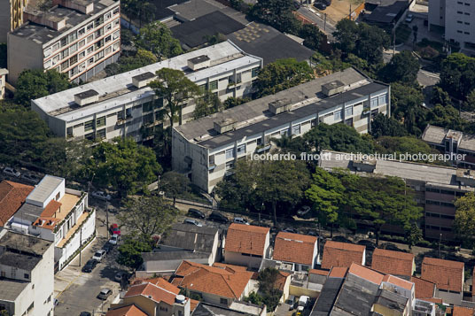
[[[262,0],[253,5],[249,15],[281,32],[297,35],[300,21],[292,11],[292,0]]]

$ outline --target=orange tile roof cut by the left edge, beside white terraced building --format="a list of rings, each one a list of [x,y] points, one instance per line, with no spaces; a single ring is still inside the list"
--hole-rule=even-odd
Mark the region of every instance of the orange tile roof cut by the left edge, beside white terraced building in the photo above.
[[[0,183],[0,227],[18,211],[33,189],[35,187],[12,181]]]

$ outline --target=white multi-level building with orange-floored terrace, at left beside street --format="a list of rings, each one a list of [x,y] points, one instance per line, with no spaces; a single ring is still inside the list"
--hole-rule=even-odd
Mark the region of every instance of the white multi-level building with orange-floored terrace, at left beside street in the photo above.
[[[54,243],[55,271],[74,258],[96,232],[96,212],[88,195],[65,187],[65,179],[45,175],[4,227]]]

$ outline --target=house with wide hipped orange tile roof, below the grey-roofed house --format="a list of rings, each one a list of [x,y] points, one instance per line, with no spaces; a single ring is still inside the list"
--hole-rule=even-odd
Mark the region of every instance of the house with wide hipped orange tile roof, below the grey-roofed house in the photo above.
[[[230,306],[233,300],[249,294],[252,276],[252,272],[233,266],[206,266],[183,260],[172,283],[199,295],[207,303]]]

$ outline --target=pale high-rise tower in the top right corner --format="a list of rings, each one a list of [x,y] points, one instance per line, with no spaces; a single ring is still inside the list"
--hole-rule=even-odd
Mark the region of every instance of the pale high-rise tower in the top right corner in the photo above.
[[[443,30],[445,40],[475,53],[475,5],[470,0],[429,1],[429,30]],[[463,50],[462,50],[463,51]]]

